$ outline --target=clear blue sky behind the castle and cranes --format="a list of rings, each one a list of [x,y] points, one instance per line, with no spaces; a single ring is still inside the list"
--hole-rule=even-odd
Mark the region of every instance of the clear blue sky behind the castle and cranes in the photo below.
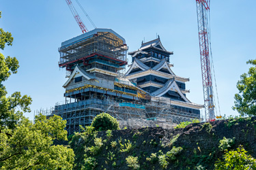
[[[89,30],[94,29],[76,1],[76,10]],[[195,0],[79,0],[98,28],[111,28],[126,39],[128,51],[141,41],[160,35],[163,46],[173,51],[173,72],[190,78],[186,88],[193,103],[203,104],[201,63]],[[212,52],[221,114],[238,115],[231,107],[238,92],[236,83],[255,59],[256,1],[211,1]],[[59,69],[58,48],[62,41],[81,35],[65,0],[0,0],[0,27],[10,31],[13,46],[2,52],[16,56],[20,68],[4,84],[9,94],[20,91],[33,99],[36,109],[50,108],[63,101],[66,71]],[[131,57],[128,56],[129,63]],[[204,111],[202,112],[204,114]]]

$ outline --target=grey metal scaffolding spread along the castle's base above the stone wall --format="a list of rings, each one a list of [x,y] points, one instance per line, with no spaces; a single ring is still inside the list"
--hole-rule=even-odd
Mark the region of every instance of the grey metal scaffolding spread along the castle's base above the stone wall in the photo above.
[[[48,118],[53,115],[61,116],[67,121],[66,130],[70,135],[75,131],[81,131],[79,125],[89,126],[95,116],[102,112],[117,118],[121,129],[125,126],[128,128],[162,126],[171,129],[180,122],[199,119],[198,115],[177,111],[171,105],[171,100],[163,97],[156,97],[144,104],[117,103],[110,97],[91,98],[62,105],[57,103],[54,108],[36,111],[35,115],[42,113]]]

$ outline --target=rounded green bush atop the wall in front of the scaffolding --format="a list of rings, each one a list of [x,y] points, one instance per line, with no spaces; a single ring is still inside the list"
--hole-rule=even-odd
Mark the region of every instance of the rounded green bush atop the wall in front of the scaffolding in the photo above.
[[[115,118],[109,114],[98,114],[91,122],[91,126],[94,126],[96,131],[107,131],[119,129],[119,123]]]

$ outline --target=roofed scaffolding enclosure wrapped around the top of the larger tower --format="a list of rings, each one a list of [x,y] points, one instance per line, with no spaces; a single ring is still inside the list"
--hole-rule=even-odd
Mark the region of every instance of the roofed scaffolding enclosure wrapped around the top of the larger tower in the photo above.
[[[85,34],[86,35],[86,34]],[[59,48],[59,66],[66,67],[70,63],[83,61],[85,57],[101,54],[118,61],[126,62],[128,47],[122,39],[109,32],[98,32],[78,41],[64,44]],[[127,63],[127,62],[126,62]]]

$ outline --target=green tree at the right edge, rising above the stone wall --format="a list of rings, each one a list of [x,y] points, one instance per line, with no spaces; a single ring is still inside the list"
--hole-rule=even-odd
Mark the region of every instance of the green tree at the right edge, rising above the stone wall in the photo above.
[[[247,114],[249,116],[256,115],[256,60],[250,60],[247,64],[253,65],[249,68],[248,73],[243,73],[236,87],[239,93],[235,95],[235,105],[232,107],[236,109],[242,116]]]

